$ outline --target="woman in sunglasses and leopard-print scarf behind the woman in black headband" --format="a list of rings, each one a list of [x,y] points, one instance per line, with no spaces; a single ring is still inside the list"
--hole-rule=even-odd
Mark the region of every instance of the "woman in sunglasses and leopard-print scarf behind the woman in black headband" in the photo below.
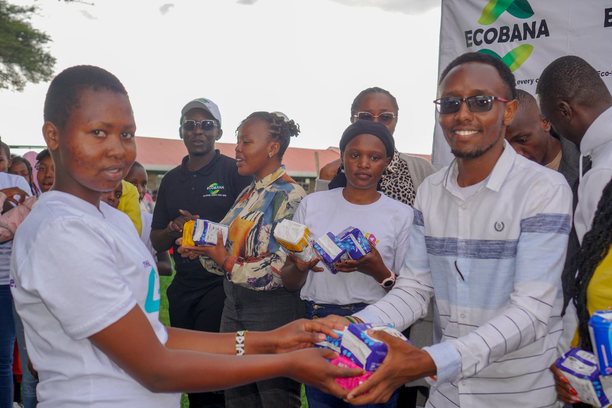
[[[351,105],[351,123],[357,119],[380,122],[393,134],[398,119],[398,105],[395,97],[389,91],[379,87],[371,87],[361,91]],[[329,186],[342,169],[340,159],[323,166],[316,179],[316,191],[338,187]],[[425,177],[433,174],[436,169],[424,158],[403,154],[395,149],[395,154],[389,167],[383,174],[379,189],[384,195],[412,206],[414,197]]]

